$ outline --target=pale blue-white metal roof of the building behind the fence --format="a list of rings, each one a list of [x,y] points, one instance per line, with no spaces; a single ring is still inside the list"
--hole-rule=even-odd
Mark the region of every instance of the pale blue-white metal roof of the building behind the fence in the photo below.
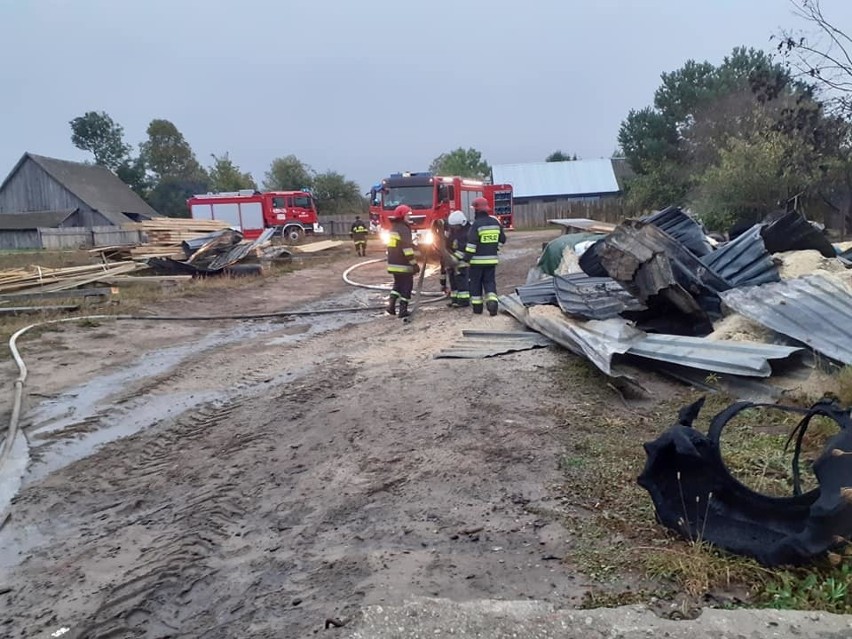
[[[494,184],[511,184],[516,198],[620,191],[611,160],[497,164],[491,174]]]

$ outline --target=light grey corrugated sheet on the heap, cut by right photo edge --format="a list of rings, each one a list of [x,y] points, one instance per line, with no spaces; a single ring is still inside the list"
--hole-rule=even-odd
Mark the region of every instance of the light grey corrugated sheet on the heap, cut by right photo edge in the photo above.
[[[852,292],[842,284],[808,275],[731,289],[721,297],[740,315],[852,364]]]

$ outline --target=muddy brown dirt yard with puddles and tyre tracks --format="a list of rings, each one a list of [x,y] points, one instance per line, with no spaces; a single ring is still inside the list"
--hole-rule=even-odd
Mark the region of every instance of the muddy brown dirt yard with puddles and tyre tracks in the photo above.
[[[556,234],[510,235],[501,292]],[[151,311],[381,303],[341,280],[356,262]],[[572,356],[433,358],[465,328],[518,326],[439,304],[407,325],[108,321],[25,340],[30,449],[0,530],[0,634],[333,636],[327,619],[408,596],[578,605],[589,582],[563,561],[557,489],[571,398],[552,381]]]

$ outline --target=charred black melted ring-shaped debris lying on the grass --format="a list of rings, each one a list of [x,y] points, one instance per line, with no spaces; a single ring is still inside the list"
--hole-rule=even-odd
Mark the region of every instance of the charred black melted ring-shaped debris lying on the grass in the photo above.
[[[657,520],[690,541],[707,541],[767,566],[801,565],[841,550],[852,539],[852,419],[849,410],[824,401],[810,409],[763,406],[802,415],[795,441],[793,495],[773,497],[739,482],[722,458],[720,438],[740,412],[760,405],[739,402],[716,415],[708,433],[696,430],[701,399],[681,409],[677,423],[645,444],[639,477],[654,502]],[[812,468],[819,486],[802,493],[799,460],[811,420],[834,421],[840,432],[826,443]],[[840,555],[835,555],[839,559]]]

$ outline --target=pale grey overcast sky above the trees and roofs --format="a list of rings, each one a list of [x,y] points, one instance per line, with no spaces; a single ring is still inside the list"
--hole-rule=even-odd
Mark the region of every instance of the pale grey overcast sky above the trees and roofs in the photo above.
[[[852,1],[823,0],[852,31]],[[68,121],[173,121],[261,180],[293,153],[364,190],[458,146],[608,157],[660,73],[770,48],[788,0],[0,0],[0,174],[86,159]]]

